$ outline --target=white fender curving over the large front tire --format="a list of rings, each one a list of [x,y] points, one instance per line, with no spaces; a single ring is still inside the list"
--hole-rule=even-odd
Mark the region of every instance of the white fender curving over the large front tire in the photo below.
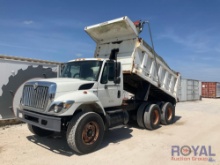
[[[104,116],[106,116],[106,112],[102,106],[102,103],[92,90],[68,92],[55,98],[53,102],[62,101],[74,101],[74,103],[67,111],[59,114],[59,116],[73,115],[75,111],[79,109],[85,111],[97,111],[98,113],[102,113]]]

